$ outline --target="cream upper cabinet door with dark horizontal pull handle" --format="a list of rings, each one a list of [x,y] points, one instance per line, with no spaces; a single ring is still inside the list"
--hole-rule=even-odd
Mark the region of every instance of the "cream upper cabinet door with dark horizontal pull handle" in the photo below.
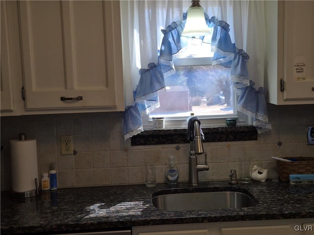
[[[20,19],[26,110],[124,109],[119,2],[20,1]]]

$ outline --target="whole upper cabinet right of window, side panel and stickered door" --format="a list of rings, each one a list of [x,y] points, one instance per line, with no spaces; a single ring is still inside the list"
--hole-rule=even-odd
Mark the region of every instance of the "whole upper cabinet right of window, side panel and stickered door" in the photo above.
[[[314,104],[314,1],[265,1],[268,102]]]

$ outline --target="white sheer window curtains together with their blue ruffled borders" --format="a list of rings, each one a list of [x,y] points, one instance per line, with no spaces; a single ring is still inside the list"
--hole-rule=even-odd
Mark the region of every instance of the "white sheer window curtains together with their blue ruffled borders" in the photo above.
[[[163,73],[172,68],[172,55],[182,48],[183,13],[189,4],[182,0],[121,1],[125,139],[143,131],[143,111],[158,106],[156,92],[165,87]],[[263,88],[264,2],[212,0],[202,1],[201,5],[208,25],[215,25],[211,39],[215,50],[213,59],[218,63],[231,63],[231,77],[241,90],[237,110],[253,118],[259,133],[270,130],[266,89]]]

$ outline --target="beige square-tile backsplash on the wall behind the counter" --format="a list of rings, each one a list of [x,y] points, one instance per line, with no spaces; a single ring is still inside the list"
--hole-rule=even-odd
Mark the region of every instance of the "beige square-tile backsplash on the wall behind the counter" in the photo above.
[[[306,138],[306,127],[314,125],[314,105],[269,104],[268,113],[273,129],[257,141],[204,143],[209,171],[199,172],[199,179],[227,179],[232,168],[240,176],[242,163],[257,164],[268,169],[269,178],[277,178],[272,156],[314,157],[314,145],[307,145]],[[54,163],[60,188],[143,184],[145,161],[156,164],[157,182],[165,182],[169,156],[179,166],[179,181],[188,181],[188,143],[131,146],[124,141],[122,124],[121,112],[1,117],[1,190],[11,189],[9,140],[19,133],[37,140],[39,177]],[[61,156],[61,135],[73,136],[76,155]],[[204,155],[198,160],[204,162]]]

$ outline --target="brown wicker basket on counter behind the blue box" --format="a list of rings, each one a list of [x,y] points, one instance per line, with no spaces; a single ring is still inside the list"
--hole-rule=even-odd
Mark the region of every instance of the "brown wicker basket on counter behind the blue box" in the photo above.
[[[283,182],[289,181],[290,174],[314,174],[314,158],[311,157],[295,157],[285,158],[288,160],[296,159],[295,162],[277,161],[277,170],[279,180]]]

